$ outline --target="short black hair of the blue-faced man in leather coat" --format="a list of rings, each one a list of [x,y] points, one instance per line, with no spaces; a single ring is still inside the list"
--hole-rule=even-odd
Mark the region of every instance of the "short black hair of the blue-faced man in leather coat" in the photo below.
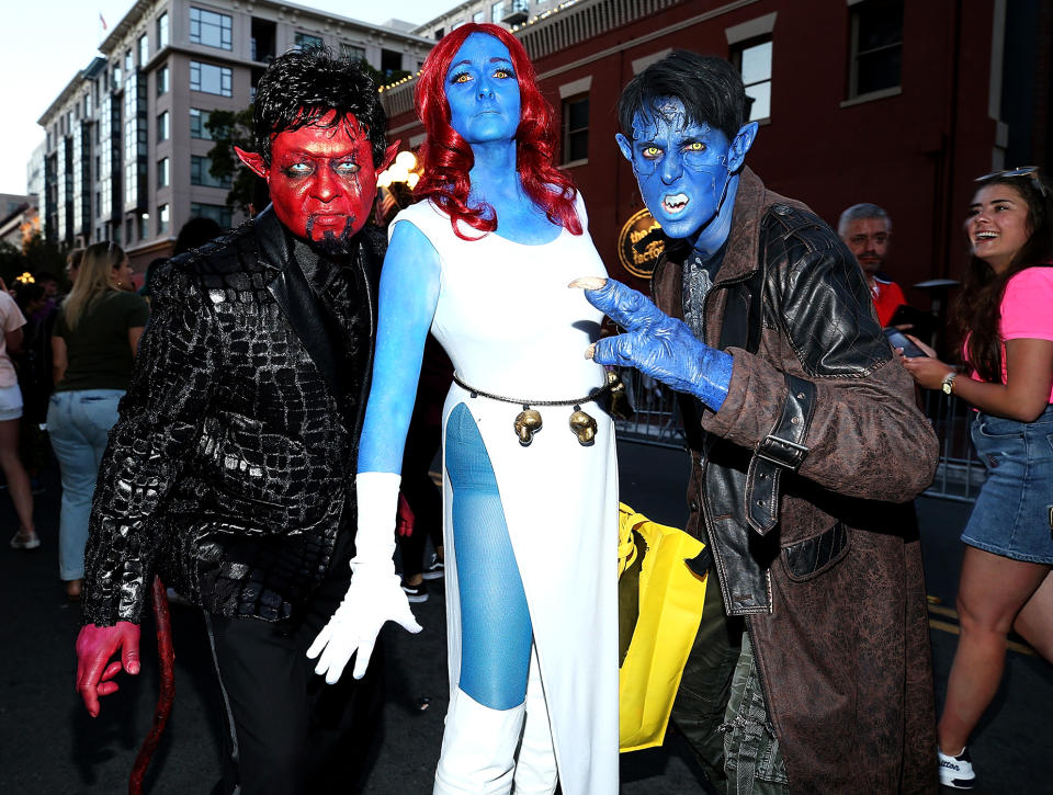
[[[721,129],[728,141],[749,118],[749,98],[743,78],[729,63],[715,55],[675,49],[630,80],[618,101],[622,133],[633,137],[637,113],[654,116],[660,99],[672,96],[683,103],[688,121]]]

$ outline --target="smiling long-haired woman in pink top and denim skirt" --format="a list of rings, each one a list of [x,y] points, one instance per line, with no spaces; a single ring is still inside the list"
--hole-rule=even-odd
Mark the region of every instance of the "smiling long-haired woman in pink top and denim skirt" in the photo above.
[[[998,690],[1009,629],[1053,661],[1053,188],[1037,168],[977,182],[953,313],[972,375],[924,345],[931,357],[903,360],[921,386],[977,409],[987,467],[962,533],[962,632],[938,729],[940,781],[956,788],[975,783],[965,743]]]

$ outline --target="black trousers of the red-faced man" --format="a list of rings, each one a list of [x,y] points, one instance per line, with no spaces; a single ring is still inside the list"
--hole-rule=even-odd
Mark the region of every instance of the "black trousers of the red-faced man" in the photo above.
[[[350,581],[350,534],[341,533],[329,575],[295,625],[205,613],[228,728],[225,795],[352,793],[378,738],[384,703],[383,648],[370,668],[337,684],[314,672],[307,647],[340,604]]]

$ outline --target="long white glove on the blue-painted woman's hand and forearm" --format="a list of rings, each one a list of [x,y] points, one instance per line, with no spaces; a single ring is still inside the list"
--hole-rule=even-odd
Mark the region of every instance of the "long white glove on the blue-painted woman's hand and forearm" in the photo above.
[[[308,658],[318,657],[315,673],[325,674],[329,684],[340,679],[355,650],[352,675],[355,679],[365,675],[376,636],[385,622],[394,621],[415,634],[421,629],[392,560],[400,479],[394,473],[381,472],[355,476],[359,532],[354,538],[355,556],[351,559],[351,586],[329,623],[307,649]]]

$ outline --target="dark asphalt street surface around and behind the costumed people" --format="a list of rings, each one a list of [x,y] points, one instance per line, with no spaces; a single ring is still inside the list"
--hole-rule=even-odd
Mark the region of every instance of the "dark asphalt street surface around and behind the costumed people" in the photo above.
[[[680,525],[688,465],[677,450],[620,443],[623,501],[655,521]],[[92,719],[73,690],[73,639],[79,610],[57,579],[57,473],[45,476],[36,498],[42,548],[15,552],[7,540],[16,526],[0,491],[0,594],[8,612],[0,623],[0,795],[124,793],[138,746],[157,700],[152,626],[144,625],[143,672],[123,677]],[[954,591],[961,561],[958,534],[969,506],[921,498],[917,502],[926,560],[938,703],[954,654]],[[417,795],[431,791],[448,700],[443,584],[429,582],[431,599],[414,605],[424,631],[410,636],[385,631],[388,704],[383,737],[364,792]],[[173,605],[176,706],[147,777],[154,795],[208,793],[218,779],[220,724],[200,611]],[[281,683],[275,683],[280,686]],[[1009,651],[998,696],[972,742],[981,775],[977,793],[1035,795],[1053,791],[1053,669],[1022,644]],[[707,792],[682,737],[670,728],[663,748],[624,754],[625,795]],[[870,790],[860,782],[860,793]]]

